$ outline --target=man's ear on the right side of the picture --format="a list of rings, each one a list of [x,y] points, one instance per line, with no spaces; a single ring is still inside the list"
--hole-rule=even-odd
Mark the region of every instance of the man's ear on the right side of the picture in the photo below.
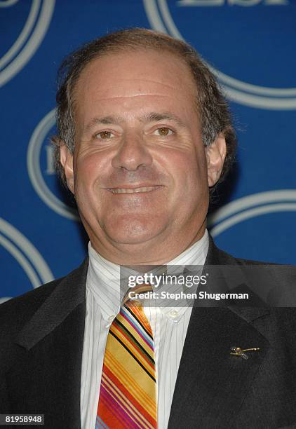
[[[226,152],[225,137],[221,132],[215,141],[210,144],[210,146],[206,147],[209,187],[214,186],[221,175]]]

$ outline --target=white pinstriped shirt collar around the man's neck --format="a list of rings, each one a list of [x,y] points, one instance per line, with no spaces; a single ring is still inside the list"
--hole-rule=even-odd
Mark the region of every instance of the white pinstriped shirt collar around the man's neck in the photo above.
[[[177,257],[168,261],[168,273],[174,272],[174,267],[180,273],[180,266],[203,266],[208,253],[208,231],[203,237],[184,250]],[[120,288],[120,266],[108,261],[98,254],[91,243],[88,243],[88,274],[86,278],[86,289],[93,294],[97,305],[100,308],[102,317],[105,320],[113,320],[119,313],[121,301],[123,299],[123,291]],[[130,274],[136,271],[130,270]],[[177,322],[180,320],[186,308],[175,306],[163,306],[161,311],[168,318]]]

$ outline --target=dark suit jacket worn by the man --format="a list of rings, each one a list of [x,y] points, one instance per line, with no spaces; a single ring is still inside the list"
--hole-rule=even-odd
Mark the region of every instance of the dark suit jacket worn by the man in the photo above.
[[[206,264],[243,266],[210,240]],[[0,413],[81,428],[88,260],[0,306]],[[229,348],[260,347],[248,360]],[[193,308],[168,428],[296,428],[296,310]]]

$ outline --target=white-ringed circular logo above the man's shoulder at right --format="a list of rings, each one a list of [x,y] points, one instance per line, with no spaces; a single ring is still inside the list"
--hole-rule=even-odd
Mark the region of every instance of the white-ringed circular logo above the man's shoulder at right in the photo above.
[[[264,254],[266,261],[295,264],[295,212],[296,189],[260,192],[224,205],[208,217],[208,226],[217,245],[229,252],[235,247],[248,259]]]

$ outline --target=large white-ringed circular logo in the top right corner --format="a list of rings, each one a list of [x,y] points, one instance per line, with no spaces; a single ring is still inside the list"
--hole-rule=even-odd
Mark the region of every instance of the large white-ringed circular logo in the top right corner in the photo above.
[[[296,109],[292,0],[143,0],[153,29],[186,39],[229,100],[262,109]],[[283,70],[285,71],[283,73]]]

